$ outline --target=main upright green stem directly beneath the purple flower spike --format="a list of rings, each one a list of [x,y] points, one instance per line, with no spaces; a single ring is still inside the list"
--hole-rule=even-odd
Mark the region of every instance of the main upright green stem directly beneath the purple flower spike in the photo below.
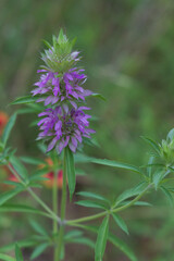
[[[65,157],[65,149],[64,149],[64,159],[63,159],[63,187],[62,187],[62,199],[61,199],[61,226],[59,231],[59,238],[58,238],[58,259],[61,259],[61,251],[63,248],[63,236],[64,236],[64,217],[65,217],[65,209],[66,209],[66,157]]]

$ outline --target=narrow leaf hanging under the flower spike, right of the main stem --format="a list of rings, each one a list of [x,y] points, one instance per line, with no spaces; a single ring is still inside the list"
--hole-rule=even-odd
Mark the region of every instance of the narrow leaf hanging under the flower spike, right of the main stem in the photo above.
[[[66,159],[66,173],[67,173],[70,198],[72,199],[72,196],[75,190],[76,176],[75,176],[75,166],[74,166],[74,154],[67,147],[65,148],[65,159]]]

